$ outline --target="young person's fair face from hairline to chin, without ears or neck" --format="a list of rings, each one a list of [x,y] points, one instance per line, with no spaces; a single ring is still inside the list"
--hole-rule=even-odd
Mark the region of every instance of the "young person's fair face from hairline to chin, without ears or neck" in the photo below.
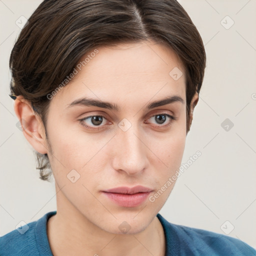
[[[185,70],[162,44],[97,50],[50,99],[46,129],[61,188],[57,211],[108,232],[121,233],[124,225],[136,233],[149,225],[175,183],[169,178],[180,166],[186,138]],[[173,68],[183,75],[174,79]],[[109,191],[138,185],[145,189]]]

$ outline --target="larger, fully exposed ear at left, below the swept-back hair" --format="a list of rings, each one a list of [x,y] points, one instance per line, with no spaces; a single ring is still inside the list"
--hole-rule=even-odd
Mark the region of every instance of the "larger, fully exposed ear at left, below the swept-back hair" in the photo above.
[[[14,100],[14,111],[21,124],[23,135],[31,146],[41,154],[48,153],[43,123],[23,96],[19,95]]]

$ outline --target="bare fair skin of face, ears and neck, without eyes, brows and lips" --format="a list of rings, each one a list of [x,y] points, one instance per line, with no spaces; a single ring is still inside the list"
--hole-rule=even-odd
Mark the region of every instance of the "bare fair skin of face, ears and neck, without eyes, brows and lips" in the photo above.
[[[50,100],[48,142],[40,118],[18,96],[14,110],[24,120],[23,134],[33,148],[47,153],[56,187],[57,213],[47,222],[54,256],[58,255],[158,255],[165,252],[163,228],[156,217],[174,182],[153,202],[122,207],[102,190],[135,185],[155,194],[178,169],[186,138],[185,70],[169,47],[152,41],[99,47],[99,52]],[[84,56],[83,58],[84,59]],[[169,72],[178,67],[183,75],[174,80]],[[147,110],[145,106],[167,95],[183,100]],[[119,105],[120,110],[68,104],[81,96]],[[195,105],[195,94],[191,105]],[[192,120],[192,110],[190,120]],[[176,117],[169,123],[157,114]],[[79,119],[104,114],[99,130],[87,129]],[[126,118],[131,127],[118,123]],[[157,122],[158,121],[158,122]],[[91,118],[84,120],[93,125]],[[80,178],[72,183],[67,174],[75,169]],[[126,221],[130,229],[122,233]]]

